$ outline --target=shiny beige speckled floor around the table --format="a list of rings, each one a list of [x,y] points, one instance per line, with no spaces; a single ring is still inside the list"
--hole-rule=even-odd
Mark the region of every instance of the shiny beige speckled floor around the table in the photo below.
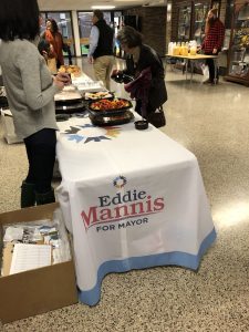
[[[83,70],[92,75],[85,61]],[[204,85],[199,75],[189,83],[169,66],[166,82],[163,132],[196,155],[218,232],[198,272],[108,274],[98,305],[63,308],[6,324],[4,332],[249,331],[249,90],[222,80]],[[112,90],[125,96],[121,85]],[[0,212],[19,208],[25,172],[23,145],[7,145],[0,124]]]

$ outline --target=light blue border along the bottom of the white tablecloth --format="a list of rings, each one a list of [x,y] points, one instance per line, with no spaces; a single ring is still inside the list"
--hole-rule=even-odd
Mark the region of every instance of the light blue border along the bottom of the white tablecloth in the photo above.
[[[215,228],[204,239],[198,255],[180,251],[157,253],[143,257],[131,257],[124,260],[111,260],[102,263],[97,271],[97,283],[89,291],[79,291],[79,300],[89,305],[95,305],[101,299],[101,284],[104,277],[113,272],[127,272],[160,266],[179,266],[191,270],[197,270],[204,253],[216,239]]]

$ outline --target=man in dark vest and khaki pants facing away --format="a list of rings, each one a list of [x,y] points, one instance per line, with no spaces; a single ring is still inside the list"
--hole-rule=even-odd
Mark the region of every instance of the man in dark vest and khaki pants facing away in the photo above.
[[[103,12],[94,10],[90,34],[89,62],[93,64],[95,77],[110,90],[110,76],[114,63],[114,30],[105,22]]]

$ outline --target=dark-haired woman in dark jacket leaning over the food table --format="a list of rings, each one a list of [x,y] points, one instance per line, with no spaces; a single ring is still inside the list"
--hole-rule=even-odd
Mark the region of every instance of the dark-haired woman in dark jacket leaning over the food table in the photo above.
[[[142,43],[142,34],[132,27],[124,27],[117,33],[117,41],[127,54],[126,70],[123,73],[134,76],[137,82],[126,86],[126,91],[136,98],[136,111],[143,116],[155,112],[167,101],[164,66],[159,55]]]

